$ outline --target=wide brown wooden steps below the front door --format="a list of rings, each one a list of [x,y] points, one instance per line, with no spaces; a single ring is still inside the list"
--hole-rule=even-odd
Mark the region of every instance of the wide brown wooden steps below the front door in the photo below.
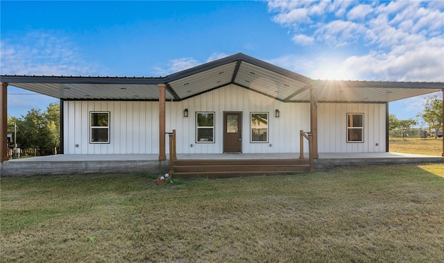
[[[307,159],[264,159],[264,160],[176,160],[174,176],[180,178],[213,178],[268,175],[309,171]]]

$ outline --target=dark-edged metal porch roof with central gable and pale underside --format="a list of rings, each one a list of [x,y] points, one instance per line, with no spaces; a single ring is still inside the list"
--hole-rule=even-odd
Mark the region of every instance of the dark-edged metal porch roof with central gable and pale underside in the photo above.
[[[234,84],[285,102],[309,101],[309,88],[319,102],[386,103],[444,89],[444,83],[312,80],[243,53],[185,69],[165,77],[11,76],[1,82],[64,100],[158,100],[159,84],[166,99],[182,101]]]

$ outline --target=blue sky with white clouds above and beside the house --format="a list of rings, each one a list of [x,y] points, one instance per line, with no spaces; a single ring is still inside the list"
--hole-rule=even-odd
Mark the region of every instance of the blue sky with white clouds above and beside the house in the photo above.
[[[0,10],[1,74],[166,76],[242,52],[314,79],[444,82],[444,1],[0,1]],[[58,102],[28,94],[8,88],[10,116]],[[423,102],[397,101],[390,113],[416,117]]]

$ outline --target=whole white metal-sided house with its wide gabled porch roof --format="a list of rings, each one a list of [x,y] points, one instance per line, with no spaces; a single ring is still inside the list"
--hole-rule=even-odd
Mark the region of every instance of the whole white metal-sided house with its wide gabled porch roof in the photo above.
[[[388,103],[444,90],[444,83],[312,80],[243,53],[159,78],[5,75],[1,83],[5,139],[12,85],[60,99],[62,153],[159,160],[167,159],[172,130],[177,153],[299,153],[300,130],[312,135],[314,158],[384,153]]]

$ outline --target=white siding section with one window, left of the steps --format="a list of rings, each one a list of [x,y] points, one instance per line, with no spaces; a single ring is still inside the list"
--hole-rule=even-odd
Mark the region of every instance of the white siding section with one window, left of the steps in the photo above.
[[[63,103],[65,154],[159,153],[157,101]],[[89,143],[89,112],[110,112],[110,143]]]

